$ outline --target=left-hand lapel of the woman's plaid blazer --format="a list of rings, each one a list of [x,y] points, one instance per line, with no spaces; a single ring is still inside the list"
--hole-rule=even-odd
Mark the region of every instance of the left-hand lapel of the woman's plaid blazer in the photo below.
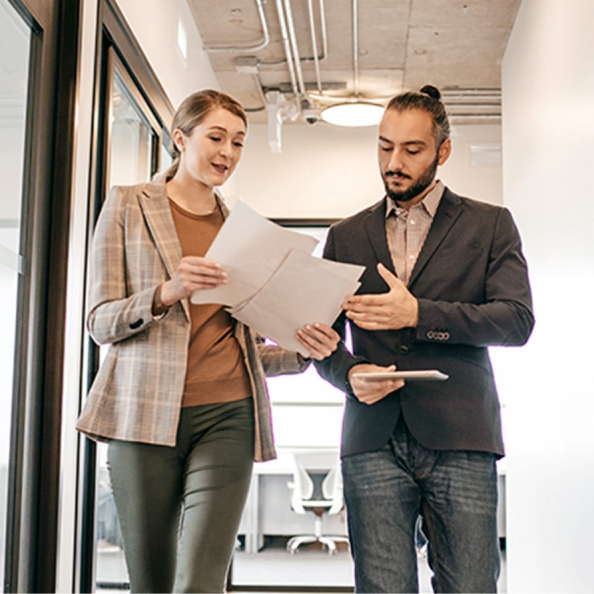
[[[138,202],[169,278],[172,278],[178,270],[182,248],[171,216],[165,184],[145,184],[138,195]],[[188,300],[182,299],[181,304],[189,319]]]

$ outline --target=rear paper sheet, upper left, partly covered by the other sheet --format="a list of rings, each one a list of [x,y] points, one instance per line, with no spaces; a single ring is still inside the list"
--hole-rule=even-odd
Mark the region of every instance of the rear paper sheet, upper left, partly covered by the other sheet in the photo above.
[[[229,282],[194,292],[191,302],[235,307],[266,284],[292,249],[311,254],[317,243],[310,235],[284,229],[239,201],[206,254],[221,264]]]

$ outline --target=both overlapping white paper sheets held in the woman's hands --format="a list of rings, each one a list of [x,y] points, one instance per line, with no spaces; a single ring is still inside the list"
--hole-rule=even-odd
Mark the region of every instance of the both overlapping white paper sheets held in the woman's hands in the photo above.
[[[295,338],[298,328],[314,322],[331,326],[365,270],[312,256],[316,244],[240,202],[206,254],[221,264],[229,282],[196,291],[191,301],[228,305],[237,320],[307,356]]]

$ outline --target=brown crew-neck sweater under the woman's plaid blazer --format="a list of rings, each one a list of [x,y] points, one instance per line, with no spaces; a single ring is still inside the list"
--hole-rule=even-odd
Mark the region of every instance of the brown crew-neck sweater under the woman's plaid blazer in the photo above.
[[[184,256],[204,256],[223,225],[219,207],[192,214],[169,200]],[[191,331],[182,406],[231,402],[252,394],[233,319],[219,304],[189,304]]]

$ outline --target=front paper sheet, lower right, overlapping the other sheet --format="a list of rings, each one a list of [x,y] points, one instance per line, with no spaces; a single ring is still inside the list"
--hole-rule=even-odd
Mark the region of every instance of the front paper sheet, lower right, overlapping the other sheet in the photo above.
[[[266,285],[230,314],[280,346],[307,356],[296,331],[314,322],[331,326],[345,298],[358,289],[364,270],[293,250]]]

